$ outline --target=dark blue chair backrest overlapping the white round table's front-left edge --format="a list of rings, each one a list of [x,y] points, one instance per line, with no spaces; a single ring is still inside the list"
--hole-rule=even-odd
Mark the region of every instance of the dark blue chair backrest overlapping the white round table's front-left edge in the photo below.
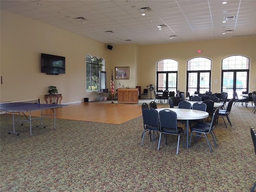
[[[171,111],[169,109],[161,110],[159,112],[159,122],[160,122],[160,129],[162,128],[176,129],[176,134],[178,134],[176,112]]]

